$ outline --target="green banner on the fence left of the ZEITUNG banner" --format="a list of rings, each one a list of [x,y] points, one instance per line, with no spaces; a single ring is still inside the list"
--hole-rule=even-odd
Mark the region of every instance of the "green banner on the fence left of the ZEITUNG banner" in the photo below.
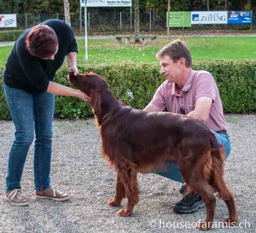
[[[191,12],[167,12],[167,27],[191,27]]]

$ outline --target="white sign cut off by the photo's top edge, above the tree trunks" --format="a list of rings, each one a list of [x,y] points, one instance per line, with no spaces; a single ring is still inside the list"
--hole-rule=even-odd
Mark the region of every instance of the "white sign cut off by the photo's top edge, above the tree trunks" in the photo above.
[[[82,7],[99,7],[99,6],[131,6],[131,0],[80,0]]]

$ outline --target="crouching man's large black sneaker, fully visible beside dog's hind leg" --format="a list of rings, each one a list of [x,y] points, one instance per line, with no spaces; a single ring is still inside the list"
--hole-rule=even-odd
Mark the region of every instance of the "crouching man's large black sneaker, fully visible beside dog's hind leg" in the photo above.
[[[195,213],[199,208],[204,207],[204,201],[198,194],[189,194],[184,196],[175,204],[173,211],[175,213]]]

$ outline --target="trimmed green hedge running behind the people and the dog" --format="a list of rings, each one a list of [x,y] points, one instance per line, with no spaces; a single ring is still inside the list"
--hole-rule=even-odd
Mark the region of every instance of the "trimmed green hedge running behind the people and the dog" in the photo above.
[[[165,80],[159,74],[158,64],[93,65],[79,64],[81,73],[89,70],[102,75],[120,101],[143,109],[151,100],[157,87]],[[256,110],[256,63],[254,61],[197,62],[193,69],[212,73],[221,94],[226,113],[253,112]],[[0,68],[0,74],[3,68]],[[67,65],[57,72],[56,82],[68,86]],[[88,104],[78,98],[56,96],[55,116],[59,118],[84,118],[92,115]],[[0,83],[0,119],[10,114]]]

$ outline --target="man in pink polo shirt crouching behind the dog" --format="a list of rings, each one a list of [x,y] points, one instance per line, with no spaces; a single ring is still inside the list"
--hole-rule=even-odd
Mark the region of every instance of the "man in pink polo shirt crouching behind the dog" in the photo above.
[[[230,140],[218,87],[209,72],[191,69],[192,58],[186,44],[175,40],[157,53],[160,74],[164,81],[157,89],[145,111],[167,109],[186,114],[204,122],[212,129],[219,143],[224,145],[226,158],[230,154]],[[154,171],[174,181],[184,182],[177,163],[166,164],[164,171]],[[183,185],[184,187],[184,185]],[[184,192],[184,190],[182,190]],[[176,213],[194,213],[204,205],[201,196],[192,193],[175,204]]]

